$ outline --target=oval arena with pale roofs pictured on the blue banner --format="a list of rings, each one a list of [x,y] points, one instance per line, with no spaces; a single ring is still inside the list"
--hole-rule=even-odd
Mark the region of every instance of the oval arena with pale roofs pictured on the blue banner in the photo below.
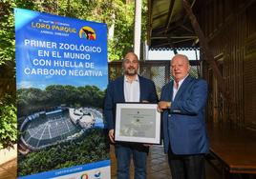
[[[53,111],[40,111],[29,115],[20,128],[23,133],[21,141],[28,149],[43,149],[74,140],[86,129],[94,127],[104,127],[100,111],[59,107]]]

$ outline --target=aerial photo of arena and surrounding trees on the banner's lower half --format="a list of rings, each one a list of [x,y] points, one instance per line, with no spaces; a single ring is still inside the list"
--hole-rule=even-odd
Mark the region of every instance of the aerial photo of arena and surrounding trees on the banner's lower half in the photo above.
[[[95,86],[18,89],[18,176],[108,160],[103,97]]]

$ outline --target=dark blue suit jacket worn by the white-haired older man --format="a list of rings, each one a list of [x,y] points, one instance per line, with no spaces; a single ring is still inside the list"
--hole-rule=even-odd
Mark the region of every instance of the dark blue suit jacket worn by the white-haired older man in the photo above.
[[[207,84],[187,76],[174,101],[173,81],[161,89],[160,101],[171,101],[171,108],[162,113],[163,144],[175,154],[199,154],[208,151],[208,139],[204,121],[207,100]]]

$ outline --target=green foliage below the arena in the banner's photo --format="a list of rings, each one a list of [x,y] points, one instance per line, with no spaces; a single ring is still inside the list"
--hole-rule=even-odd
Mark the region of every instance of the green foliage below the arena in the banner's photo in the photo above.
[[[106,136],[102,129],[90,129],[76,141],[19,155],[18,176],[107,160]]]

